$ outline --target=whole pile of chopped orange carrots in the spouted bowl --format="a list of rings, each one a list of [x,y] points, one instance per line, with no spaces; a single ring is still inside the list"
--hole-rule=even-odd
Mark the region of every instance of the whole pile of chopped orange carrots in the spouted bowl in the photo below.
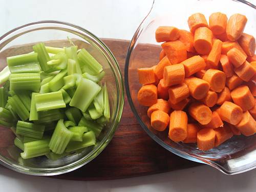
[[[159,63],[138,69],[141,105],[151,126],[175,142],[207,151],[233,135],[256,133],[255,38],[247,18],[212,13],[189,16],[189,31],[160,26]]]

